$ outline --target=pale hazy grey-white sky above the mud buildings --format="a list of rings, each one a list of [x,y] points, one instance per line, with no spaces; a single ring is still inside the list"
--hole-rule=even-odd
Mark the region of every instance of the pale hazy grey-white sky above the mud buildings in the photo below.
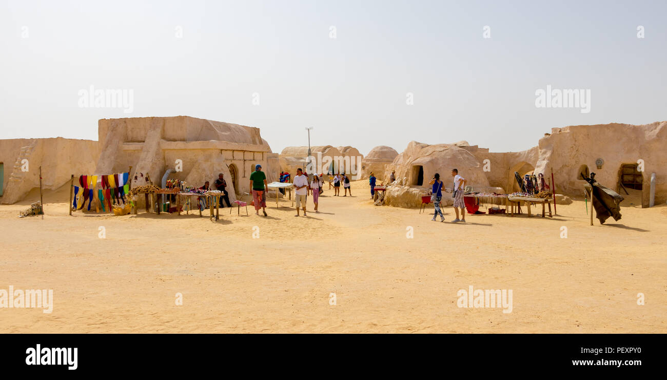
[[[273,152],[307,144],[305,127],[362,154],[524,150],[552,127],[667,120],[666,15],[634,0],[0,0],[0,138],[187,115],[261,128]],[[131,89],[133,112],[80,108],[90,85]],[[547,85],[590,89],[590,112],[537,108]]]

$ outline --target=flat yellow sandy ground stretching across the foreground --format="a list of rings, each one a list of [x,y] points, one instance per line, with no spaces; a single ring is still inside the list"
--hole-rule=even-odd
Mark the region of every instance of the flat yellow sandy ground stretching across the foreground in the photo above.
[[[54,292],[51,314],[0,309],[0,333],[667,333],[666,206],[604,226],[582,200],[554,218],[452,224],[451,207],[440,223],[374,206],[359,181],[307,218],[269,202],[268,218],[211,222],[68,216],[67,190],[47,194],[43,220],[17,218],[35,194],[0,206],[0,289]],[[470,285],[512,289],[512,313],[457,307]]]

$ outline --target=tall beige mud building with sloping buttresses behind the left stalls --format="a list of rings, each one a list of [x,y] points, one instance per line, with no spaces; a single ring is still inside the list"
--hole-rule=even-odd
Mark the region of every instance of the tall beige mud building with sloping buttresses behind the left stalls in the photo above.
[[[249,192],[256,164],[262,166],[267,182],[277,180],[277,154],[271,153],[259,128],[189,116],[103,119],[99,144],[95,173],[127,172],[132,166],[133,187],[145,184],[149,174],[156,186],[174,178],[197,187],[209,181],[214,189],[213,181],[223,173],[233,201]]]

